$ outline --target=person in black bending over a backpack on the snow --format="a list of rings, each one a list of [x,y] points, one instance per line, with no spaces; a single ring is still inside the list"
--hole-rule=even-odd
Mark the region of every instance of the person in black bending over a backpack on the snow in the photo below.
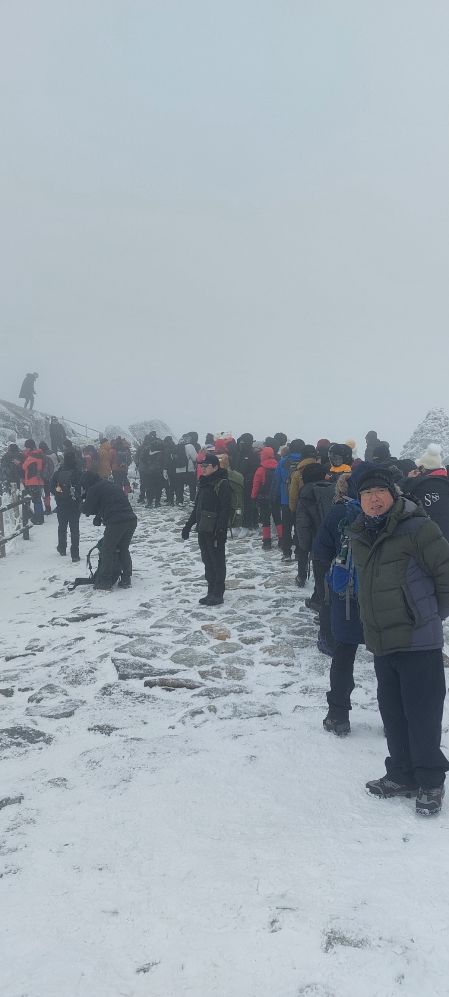
[[[118,548],[121,561],[120,588],[131,587],[132,561],[129,543],[137,525],[127,496],[119,485],[101,478],[94,471],[85,471],[80,479],[85,515],[94,515],[94,525],[105,524],[102,544],[102,578],[94,588],[112,591],[113,551]]]

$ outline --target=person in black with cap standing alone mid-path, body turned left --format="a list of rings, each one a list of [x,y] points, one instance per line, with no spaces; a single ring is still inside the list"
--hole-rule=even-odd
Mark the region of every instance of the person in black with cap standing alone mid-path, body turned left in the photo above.
[[[198,545],[204,564],[207,595],[199,600],[203,606],[222,604],[226,579],[226,536],[231,513],[231,486],[228,472],[220,468],[215,454],[206,454],[201,462],[202,475],[195,504],[181,531],[187,540],[196,523]]]

